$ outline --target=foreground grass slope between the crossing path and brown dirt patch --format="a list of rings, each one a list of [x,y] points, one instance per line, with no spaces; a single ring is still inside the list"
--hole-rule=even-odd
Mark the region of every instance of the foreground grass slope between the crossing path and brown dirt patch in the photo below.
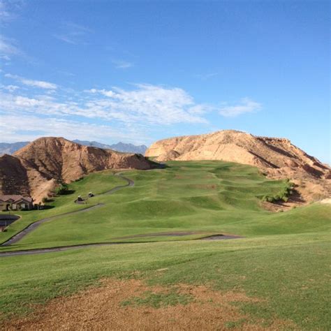
[[[1,319],[40,309],[35,304],[99,286],[98,279],[133,277],[151,285],[206,285],[222,293],[244,292],[260,299],[239,303],[244,320],[263,321],[258,325],[265,328],[273,321],[287,325],[290,321],[296,330],[330,330],[330,253],[330,237],[311,233],[127,244],[1,258],[0,325]],[[229,320],[227,325],[232,324],[240,328],[240,321]]]

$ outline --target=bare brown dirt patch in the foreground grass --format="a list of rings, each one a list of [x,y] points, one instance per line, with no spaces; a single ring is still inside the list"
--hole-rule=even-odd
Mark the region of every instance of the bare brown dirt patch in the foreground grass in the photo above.
[[[155,306],[148,295],[161,298]],[[187,297],[165,302],[175,293]],[[26,318],[7,321],[1,330],[281,330],[293,324],[272,321],[265,328],[252,323],[234,302],[261,303],[244,293],[220,293],[206,286],[147,286],[140,280],[105,280],[71,297],[59,297]]]

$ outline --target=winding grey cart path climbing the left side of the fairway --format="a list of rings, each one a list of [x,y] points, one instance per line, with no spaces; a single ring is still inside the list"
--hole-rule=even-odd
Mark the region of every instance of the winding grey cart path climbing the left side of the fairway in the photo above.
[[[124,189],[124,187],[133,186],[135,184],[135,182],[133,182],[132,179],[124,177],[123,175],[121,175],[121,173],[118,173],[116,175],[118,177],[121,177],[122,179],[126,180],[126,182],[128,182],[128,184],[115,186],[113,189],[111,189],[109,191],[106,191],[105,193],[98,194],[98,196],[104,196],[106,194],[112,194],[112,193],[115,193],[116,191],[119,191],[120,189]],[[104,203],[98,203],[97,205],[87,207],[87,208],[84,208],[84,209],[80,209],[80,210],[76,210],[75,212],[66,212],[64,214],[59,214],[59,215],[47,217],[46,219],[41,219],[40,221],[36,221],[34,223],[31,223],[29,226],[27,226],[27,228],[24,228],[23,230],[21,230],[16,235],[13,235],[13,237],[8,239],[6,242],[3,242],[0,246],[10,246],[12,244],[16,244],[17,242],[22,240],[22,238],[25,237],[27,234],[29,234],[32,231],[36,230],[36,228],[38,228],[38,226],[40,226],[42,223],[45,223],[47,221],[52,221],[53,219],[58,219],[59,217],[62,217],[62,216],[80,214],[82,212],[89,212],[92,209],[96,209],[96,208],[102,207],[104,205],[105,205]],[[2,254],[3,253],[0,253],[0,256],[2,256]]]

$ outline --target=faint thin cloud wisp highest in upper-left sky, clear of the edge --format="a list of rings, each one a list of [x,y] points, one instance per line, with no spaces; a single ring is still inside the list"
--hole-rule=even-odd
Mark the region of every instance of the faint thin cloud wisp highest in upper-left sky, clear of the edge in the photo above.
[[[87,27],[73,22],[64,22],[61,24],[60,31],[54,34],[54,38],[72,45],[84,44],[84,37],[92,31]]]

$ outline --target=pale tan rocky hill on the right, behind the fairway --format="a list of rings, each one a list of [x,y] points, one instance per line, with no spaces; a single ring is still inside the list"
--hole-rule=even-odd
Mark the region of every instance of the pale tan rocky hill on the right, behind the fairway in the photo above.
[[[156,161],[222,160],[254,165],[270,178],[292,179],[307,201],[328,198],[331,192],[330,167],[285,138],[224,130],[159,140],[145,156],[154,156]]]

